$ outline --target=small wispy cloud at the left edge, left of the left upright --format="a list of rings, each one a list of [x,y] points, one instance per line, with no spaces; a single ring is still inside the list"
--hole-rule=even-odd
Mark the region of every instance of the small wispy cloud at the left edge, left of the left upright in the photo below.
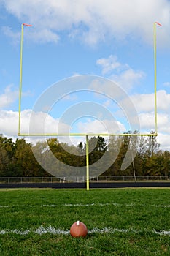
[[[16,99],[18,99],[18,91],[12,91],[12,85],[7,86],[4,93],[0,94],[0,108],[9,107]]]

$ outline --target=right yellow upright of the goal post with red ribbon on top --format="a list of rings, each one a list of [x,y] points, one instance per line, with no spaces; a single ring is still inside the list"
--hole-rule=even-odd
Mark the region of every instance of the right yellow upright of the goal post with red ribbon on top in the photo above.
[[[158,134],[158,124],[157,124],[157,95],[156,95],[156,87],[157,87],[157,72],[156,72],[156,24],[161,26],[160,23],[155,22],[153,25],[153,34],[154,34],[154,84],[155,84],[155,134]]]

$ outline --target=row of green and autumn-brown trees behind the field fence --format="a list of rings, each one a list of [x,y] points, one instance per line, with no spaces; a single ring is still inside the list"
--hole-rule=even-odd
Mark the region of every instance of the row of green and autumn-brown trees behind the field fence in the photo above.
[[[131,132],[128,132],[129,134]],[[160,150],[157,138],[150,136],[101,136],[90,137],[89,165],[96,168],[102,176],[168,176],[170,172],[170,152]],[[131,164],[121,170],[123,159],[131,147],[136,152]],[[49,151],[60,161],[69,166],[83,167],[86,165],[86,144],[80,142],[77,146],[59,142],[58,138],[49,138],[46,142],[39,141],[36,145],[27,143],[24,138],[7,138],[0,135],[0,176],[51,176],[36,161],[32,148],[39,150],[42,158]],[[114,159],[115,157],[115,159]],[[114,161],[113,161],[114,159]],[[98,165],[95,165],[99,161]],[[108,167],[107,167],[108,165]],[[102,172],[103,169],[104,172]],[[58,166],[58,168],[60,168]],[[103,169],[102,169],[103,168]],[[62,168],[60,170],[62,176]],[[94,170],[95,173],[95,170]]]

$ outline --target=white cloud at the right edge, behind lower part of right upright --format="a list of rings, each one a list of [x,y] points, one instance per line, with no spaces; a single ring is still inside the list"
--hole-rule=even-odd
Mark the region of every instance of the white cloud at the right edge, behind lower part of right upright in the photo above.
[[[147,133],[155,130],[154,94],[136,94],[131,99],[139,113],[141,129],[147,131]],[[167,142],[165,143],[163,138],[170,139],[170,94],[164,90],[157,91],[157,109],[158,138],[161,138],[159,142],[161,143],[161,148],[164,149],[167,146]]]

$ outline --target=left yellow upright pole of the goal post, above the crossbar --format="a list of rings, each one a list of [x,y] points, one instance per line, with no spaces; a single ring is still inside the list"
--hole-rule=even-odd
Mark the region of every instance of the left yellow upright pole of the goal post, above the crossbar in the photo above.
[[[20,89],[19,89],[18,135],[20,135],[20,105],[21,105],[21,94],[22,94],[22,66],[23,66],[23,24],[21,25],[21,39],[20,39]]]

